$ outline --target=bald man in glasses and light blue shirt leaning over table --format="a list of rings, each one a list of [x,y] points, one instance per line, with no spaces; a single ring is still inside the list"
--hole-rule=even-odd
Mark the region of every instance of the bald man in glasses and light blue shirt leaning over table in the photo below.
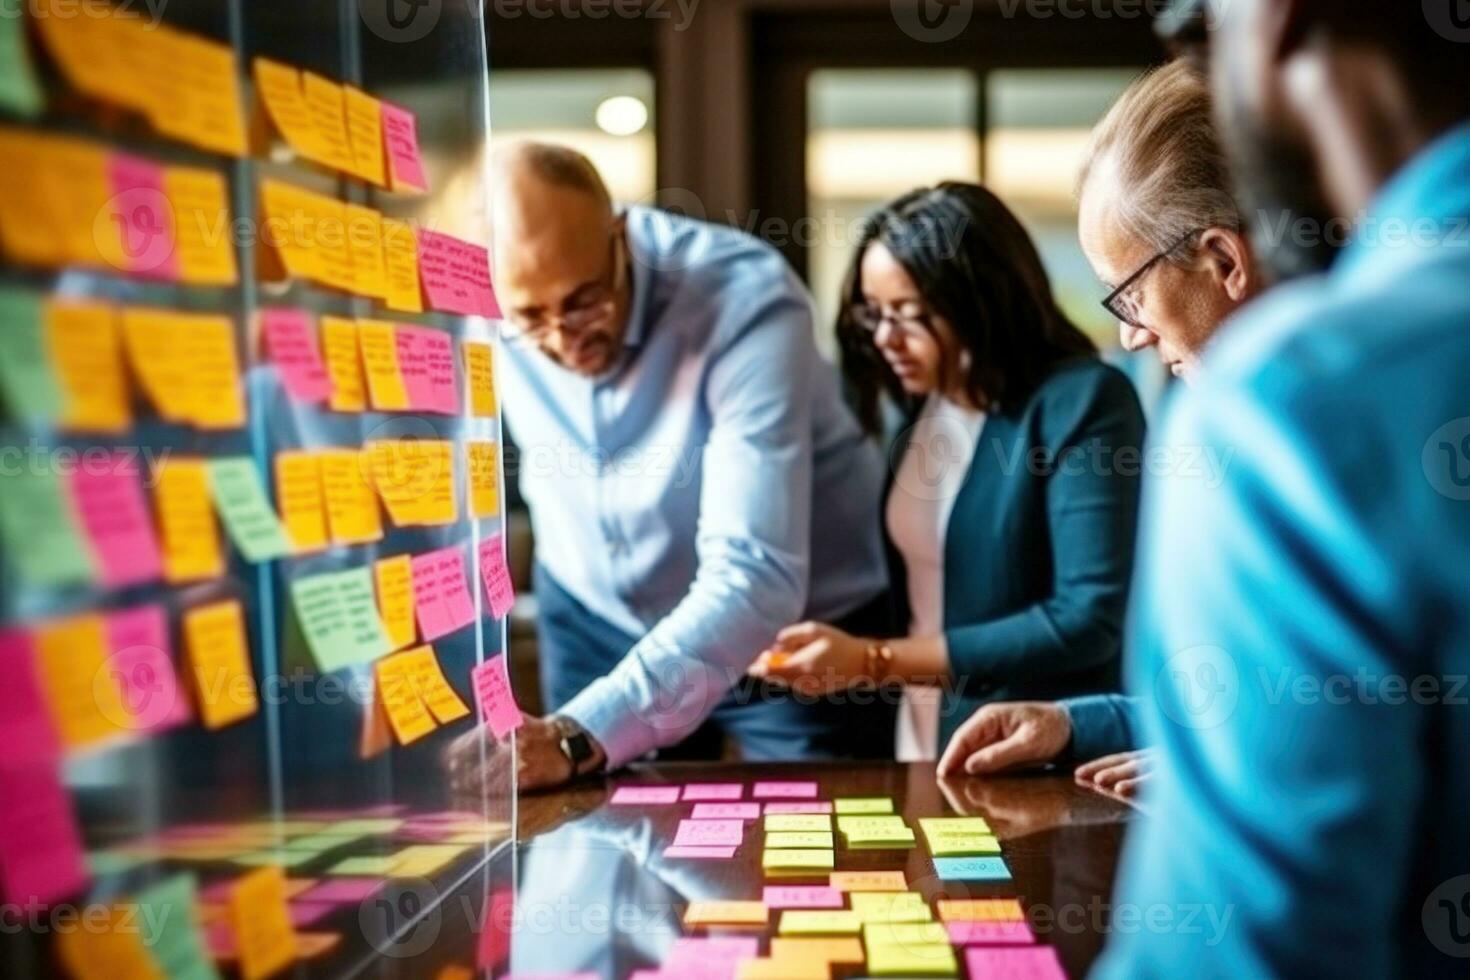
[[[786,623],[873,635],[888,614],[882,457],[817,356],[801,282],[734,229],[614,210],[572,150],[523,144],[494,169],[501,385],[554,713],[519,736],[522,789],[657,749],[717,758],[723,735],[745,760],[891,755],[878,695],[745,679]]]

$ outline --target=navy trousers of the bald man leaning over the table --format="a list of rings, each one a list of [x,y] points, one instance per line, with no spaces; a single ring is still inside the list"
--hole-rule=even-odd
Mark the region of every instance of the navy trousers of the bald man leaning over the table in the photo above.
[[[551,714],[612,671],[639,638],[591,613],[539,567],[535,594],[541,691]],[[888,636],[891,611],[889,598],[881,595],[833,626],[856,636]],[[660,749],[659,758],[719,760],[728,736],[739,748],[741,758],[750,763],[891,760],[898,701],[898,689],[800,698],[744,677],[694,735]]]

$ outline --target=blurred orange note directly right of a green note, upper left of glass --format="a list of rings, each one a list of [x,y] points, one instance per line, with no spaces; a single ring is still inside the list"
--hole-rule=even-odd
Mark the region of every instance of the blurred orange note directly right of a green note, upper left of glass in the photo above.
[[[126,432],[132,425],[118,311],[100,303],[49,303],[46,326],[71,432]]]

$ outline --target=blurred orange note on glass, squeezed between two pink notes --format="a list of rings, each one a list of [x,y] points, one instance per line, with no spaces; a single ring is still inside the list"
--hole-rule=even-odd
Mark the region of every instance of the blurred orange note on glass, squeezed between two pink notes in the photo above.
[[[128,730],[132,716],[107,670],[107,624],[101,616],[47,623],[35,630],[41,686],[68,748],[84,748]]]

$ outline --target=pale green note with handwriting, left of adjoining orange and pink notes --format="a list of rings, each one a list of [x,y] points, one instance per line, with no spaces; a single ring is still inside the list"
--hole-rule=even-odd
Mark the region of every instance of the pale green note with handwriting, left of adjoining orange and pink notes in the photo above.
[[[291,583],[301,632],[323,673],[370,664],[392,652],[378,616],[370,569],[315,574]]]

